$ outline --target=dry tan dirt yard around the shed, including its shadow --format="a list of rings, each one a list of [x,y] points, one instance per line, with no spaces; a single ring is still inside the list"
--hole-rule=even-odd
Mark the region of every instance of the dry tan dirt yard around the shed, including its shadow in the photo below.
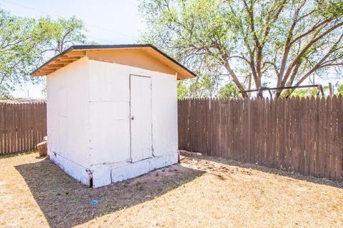
[[[0,157],[0,227],[343,227],[343,183],[183,152],[89,189],[37,156]]]

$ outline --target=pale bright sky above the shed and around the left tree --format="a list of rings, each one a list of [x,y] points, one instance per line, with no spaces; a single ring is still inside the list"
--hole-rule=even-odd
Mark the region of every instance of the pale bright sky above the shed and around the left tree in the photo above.
[[[0,8],[17,16],[76,18],[84,21],[89,41],[99,44],[133,44],[145,24],[139,17],[136,0],[0,0]],[[27,83],[16,89],[15,97],[43,97],[43,86]]]

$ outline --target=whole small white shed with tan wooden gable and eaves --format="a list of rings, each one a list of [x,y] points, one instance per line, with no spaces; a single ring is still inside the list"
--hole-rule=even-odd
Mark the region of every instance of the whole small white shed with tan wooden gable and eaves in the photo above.
[[[50,159],[101,187],[178,161],[177,80],[195,75],[150,44],[71,46],[46,75]]]

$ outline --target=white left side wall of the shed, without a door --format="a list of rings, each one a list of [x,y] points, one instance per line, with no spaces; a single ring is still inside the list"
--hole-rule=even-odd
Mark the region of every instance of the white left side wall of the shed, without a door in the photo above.
[[[84,57],[46,77],[49,155],[81,182],[91,162],[88,65]]]

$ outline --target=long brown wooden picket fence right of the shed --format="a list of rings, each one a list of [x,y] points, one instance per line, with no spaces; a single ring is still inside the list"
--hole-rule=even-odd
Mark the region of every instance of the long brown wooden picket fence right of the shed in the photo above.
[[[191,99],[178,103],[179,149],[342,180],[343,101]]]

